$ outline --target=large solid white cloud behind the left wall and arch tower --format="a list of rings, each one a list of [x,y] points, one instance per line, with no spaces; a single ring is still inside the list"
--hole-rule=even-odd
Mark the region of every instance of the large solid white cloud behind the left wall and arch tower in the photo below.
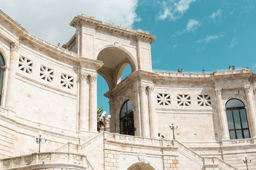
[[[132,28],[140,22],[138,0],[1,0],[0,8],[29,32],[50,43],[65,43],[75,30],[68,25],[84,13],[97,20]]]

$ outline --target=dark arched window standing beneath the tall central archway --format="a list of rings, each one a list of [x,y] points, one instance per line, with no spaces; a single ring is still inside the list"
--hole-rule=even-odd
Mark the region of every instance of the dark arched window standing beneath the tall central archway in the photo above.
[[[120,134],[134,135],[134,117],[131,101],[125,101],[120,111]]]

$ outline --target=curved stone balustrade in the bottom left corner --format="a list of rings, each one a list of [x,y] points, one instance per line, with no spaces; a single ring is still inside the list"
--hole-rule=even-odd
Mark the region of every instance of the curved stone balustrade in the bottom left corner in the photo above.
[[[23,169],[24,167],[46,166],[47,167],[83,167],[86,169],[86,157],[77,153],[44,152],[32,153],[20,157],[2,159],[0,169]],[[52,166],[51,166],[52,164]],[[69,164],[69,165],[68,165]]]

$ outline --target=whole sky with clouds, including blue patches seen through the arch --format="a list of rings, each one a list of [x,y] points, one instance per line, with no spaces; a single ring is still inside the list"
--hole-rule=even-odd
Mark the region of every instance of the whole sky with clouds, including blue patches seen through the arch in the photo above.
[[[0,8],[54,45],[72,37],[68,24],[85,13],[157,36],[153,69],[212,72],[234,65],[256,71],[255,0],[1,0]],[[99,76],[98,106],[109,112],[107,91]]]

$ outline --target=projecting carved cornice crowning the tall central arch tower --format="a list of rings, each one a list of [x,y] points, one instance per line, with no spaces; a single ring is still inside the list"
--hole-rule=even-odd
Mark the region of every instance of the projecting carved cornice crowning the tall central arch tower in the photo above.
[[[87,25],[93,25],[95,29],[102,29],[104,31],[113,32],[114,34],[118,34],[119,36],[132,36],[135,39],[141,38],[153,43],[156,40],[156,36],[152,36],[148,31],[142,31],[141,29],[132,30],[127,29],[122,26],[109,24],[107,22],[102,22],[99,20],[95,20],[94,17],[88,17],[87,15],[78,15],[71,22],[70,25],[72,27],[77,27],[77,25],[81,25],[82,23]]]

